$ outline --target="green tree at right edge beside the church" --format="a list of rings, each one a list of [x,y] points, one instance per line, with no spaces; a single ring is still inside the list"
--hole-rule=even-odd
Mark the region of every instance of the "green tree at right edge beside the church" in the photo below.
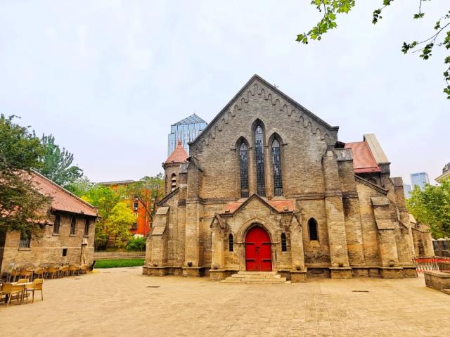
[[[450,181],[440,186],[416,186],[406,201],[409,212],[422,224],[430,226],[435,239],[450,236]]]

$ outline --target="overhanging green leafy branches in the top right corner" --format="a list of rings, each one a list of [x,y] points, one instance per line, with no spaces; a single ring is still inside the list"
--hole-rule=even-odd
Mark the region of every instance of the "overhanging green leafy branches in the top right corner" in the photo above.
[[[383,5],[373,11],[372,23],[378,23],[378,20],[383,18],[381,14],[387,6],[390,6],[394,0],[383,0]],[[414,19],[420,19],[425,16],[422,5],[424,2],[431,0],[418,0],[418,12],[413,15]],[[356,0],[312,0],[311,4],[323,14],[321,20],[317,25],[311,28],[309,32],[297,35],[297,42],[308,44],[310,39],[321,40],[323,34],[328,30],[333,30],[338,27],[336,18],[342,13],[349,13],[354,8]],[[421,41],[404,42],[401,46],[403,53],[409,51],[418,51],[420,58],[428,60],[432,56],[432,50],[435,46],[450,49],[450,11],[444,11],[441,18],[437,18],[435,25],[432,27],[432,33],[426,39]],[[443,72],[446,87],[444,93],[450,99],[450,56],[444,58],[445,70]]]

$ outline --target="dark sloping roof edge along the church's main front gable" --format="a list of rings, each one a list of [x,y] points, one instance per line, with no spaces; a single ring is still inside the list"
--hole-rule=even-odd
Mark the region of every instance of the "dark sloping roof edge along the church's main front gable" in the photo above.
[[[276,88],[274,85],[270,84],[269,82],[267,82],[266,80],[264,80],[262,77],[260,77],[259,75],[255,74],[252,77],[250,77],[250,80],[248,80],[247,83],[244,84],[244,86],[238,91],[238,93],[236,95],[233,96],[233,98],[231,98],[231,100],[229,101],[229,103],[226,103],[226,106],[220,110],[220,112],[216,115],[216,117],[214,117],[214,119],[210,122],[210,124],[208,124],[205,129],[203,130],[203,132],[200,132],[200,134],[198,134],[198,136],[191,141],[188,144],[195,144],[198,139],[200,139],[202,136],[204,136],[205,134],[207,134],[207,132],[215,125],[215,122],[217,122],[217,120],[219,120],[219,118],[226,113],[227,110],[229,110],[231,104],[236,101],[236,99],[242,95],[246,89],[248,89],[250,87],[250,84],[252,84],[252,82],[254,80],[258,80],[259,82],[262,82],[262,84],[264,84],[266,87],[269,87],[269,89],[271,89],[272,91],[274,91],[276,94],[278,94],[279,96],[283,97],[286,101],[288,101],[290,104],[292,104],[293,106],[295,106],[296,108],[298,108],[299,110],[302,110],[306,115],[308,115],[309,117],[311,117],[311,119],[315,120],[316,122],[318,122],[319,124],[323,125],[324,127],[326,127],[326,129],[330,129],[330,130],[335,130],[338,131],[339,127],[332,127],[331,125],[329,125],[327,122],[325,122],[324,120],[321,120],[321,118],[317,117],[316,115],[314,115],[314,113],[311,113],[311,111],[309,111],[307,108],[304,108],[304,106],[300,105],[300,103],[297,103],[296,101],[293,100],[293,98],[290,98],[288,95],[284,94],[283,91],[279,90],[278,88]]]

